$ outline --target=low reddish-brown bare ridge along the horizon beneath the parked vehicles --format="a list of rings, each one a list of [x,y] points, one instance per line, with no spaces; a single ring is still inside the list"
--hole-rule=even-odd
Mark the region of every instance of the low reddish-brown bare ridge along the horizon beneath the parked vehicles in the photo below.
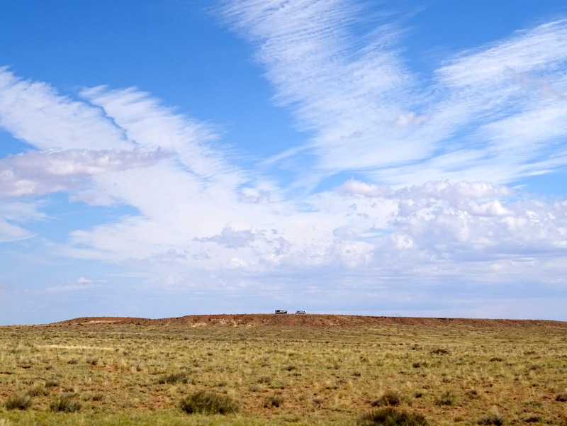
[[[230,314],[186,315],[176,318],[84,317],[49,325],[131,324],[145,326],[284,326],[284,327],[368,327],[378,325],[468,326],[468,327],[565,327],[565,321],[550,320],[488,320],[478,318],[411,318],[372,317],[327,314]]]

